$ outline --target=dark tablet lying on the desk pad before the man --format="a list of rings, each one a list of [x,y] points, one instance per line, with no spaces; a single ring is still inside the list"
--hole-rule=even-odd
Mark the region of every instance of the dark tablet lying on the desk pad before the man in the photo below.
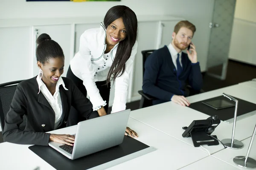
[[[216,100],[211,100],[211,101],[207,101],[207,102],[202,102],[204,105],[207,105],[209,107],[212,107],[216,110],[218,109],[224,109],[224,108],[230,108],[235,106],[234,102],[229,102],[227,100],[224,99],[216,99]]]

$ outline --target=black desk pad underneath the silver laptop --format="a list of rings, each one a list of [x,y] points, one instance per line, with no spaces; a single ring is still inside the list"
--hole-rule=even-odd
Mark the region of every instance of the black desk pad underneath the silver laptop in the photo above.
[[[122,144],[75,160],[68,159],[49,146],[33,145],[29,149],[57,170],[87,170],[148,147],[130,136],[125,136]]]

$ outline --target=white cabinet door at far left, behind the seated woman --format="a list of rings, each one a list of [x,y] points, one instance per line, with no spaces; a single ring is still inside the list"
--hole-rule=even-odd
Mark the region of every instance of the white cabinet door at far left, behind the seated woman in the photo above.
[[[0,28],[0,84],[32,76],[30,27]]]

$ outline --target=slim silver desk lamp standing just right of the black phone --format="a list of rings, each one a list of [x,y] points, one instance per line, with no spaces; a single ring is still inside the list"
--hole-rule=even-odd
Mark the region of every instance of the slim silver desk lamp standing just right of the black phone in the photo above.
[[[223,93],[223,96],[227,97],[230,100],[233,100],[236,102],[235,106],[235,114],[234,114],[234,122],[233,122],[233,130],[232,130],[232,139],[223,139],[221,142],[230,149],[241,149],[244,147],[244,144],[236,139],[234,139],[235,136],[235,130],[236,130],[236,115],[237,115],[237,108],[238,108],[238,100],[233,98],[232,96]]]

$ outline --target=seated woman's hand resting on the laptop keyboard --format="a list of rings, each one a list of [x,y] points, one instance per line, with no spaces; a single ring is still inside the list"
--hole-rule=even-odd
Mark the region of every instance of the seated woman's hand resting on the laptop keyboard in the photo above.
[[[51,134],[49,141],[58,142],[58,143],[73,146],[74,142],[75,142],[75,136],[66,135],[66,134],[64,134],[64,135]]]

